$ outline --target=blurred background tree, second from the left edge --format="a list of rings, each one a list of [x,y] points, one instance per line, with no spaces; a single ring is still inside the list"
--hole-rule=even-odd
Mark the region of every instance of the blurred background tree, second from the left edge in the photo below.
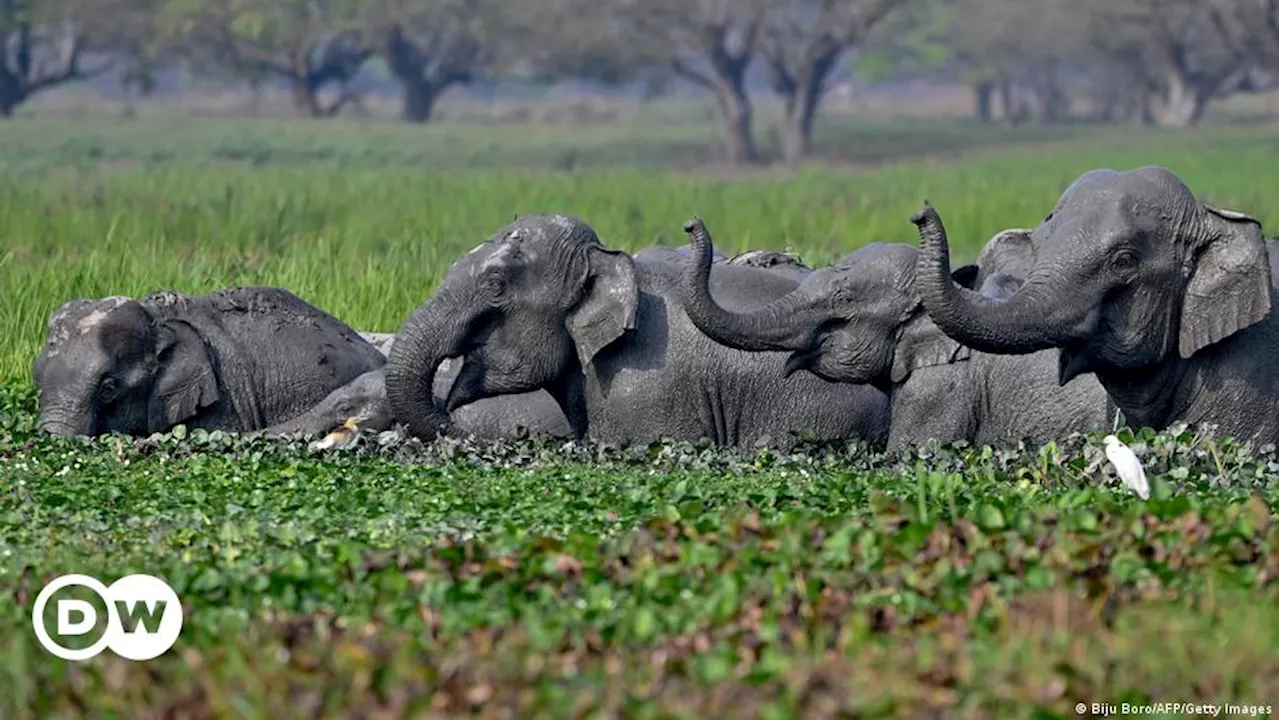
[[[355,99],[349,83],[374,53],[361,9],[358,0],[169,0],[163,18],[196,67],[283,79],[300,113],[329,118]],[[338,90],[329,102],[326,87]]]

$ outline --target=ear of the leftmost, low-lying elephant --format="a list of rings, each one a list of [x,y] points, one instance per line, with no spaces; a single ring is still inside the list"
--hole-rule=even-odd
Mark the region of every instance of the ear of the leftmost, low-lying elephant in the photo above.
[[[183,423],[218,402],[214,363],[205,341],[191,324],[172,318],[161,320],[156,325],[155,352],[152,407],[166,427]]]

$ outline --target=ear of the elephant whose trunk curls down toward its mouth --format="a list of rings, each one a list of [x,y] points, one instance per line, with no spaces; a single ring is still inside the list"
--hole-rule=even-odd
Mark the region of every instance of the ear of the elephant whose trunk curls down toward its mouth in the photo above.
[[[635,265],[626,252],[591,247],[582,299],[570,311],[567,327],[582,372],[595,355],[636,327]]]

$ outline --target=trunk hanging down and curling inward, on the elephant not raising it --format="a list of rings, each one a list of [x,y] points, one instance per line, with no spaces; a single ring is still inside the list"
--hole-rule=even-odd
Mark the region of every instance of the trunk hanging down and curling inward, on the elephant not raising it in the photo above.
[[[449,425],[435,405],[435,373],[445,357],[462,354],[470,314],[449,296],[436,295],[404,322],[387,361],[387,401],[410,433],[430,439]]]

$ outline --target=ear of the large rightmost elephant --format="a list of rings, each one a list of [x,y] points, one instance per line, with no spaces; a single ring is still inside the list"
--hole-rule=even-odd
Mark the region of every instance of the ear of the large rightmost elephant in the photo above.
[[[1184,359],[1271,311],[1271,264],[1262,224],[1244,213],[1202,209],[1204,241],[1190,259],[1178,337]]]

